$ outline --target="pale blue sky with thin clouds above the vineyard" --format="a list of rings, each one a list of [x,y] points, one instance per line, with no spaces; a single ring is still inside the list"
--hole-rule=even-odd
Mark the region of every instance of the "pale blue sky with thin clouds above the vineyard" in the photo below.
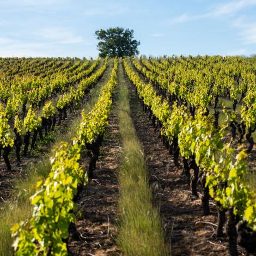
[[[256,0],[0,0],[0,56],[95,58],[116,26],[147,56],[256,53]]]

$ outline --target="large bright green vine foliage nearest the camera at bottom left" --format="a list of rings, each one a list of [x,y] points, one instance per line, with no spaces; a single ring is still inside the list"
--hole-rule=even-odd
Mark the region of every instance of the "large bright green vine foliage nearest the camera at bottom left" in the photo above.
[[[14,236],[19,235],[14,242],[16,255],[68,255],[63,239],[75,221],[71,210],[76,207],[77,184],[86,181],[78,163],[80,151],[78,144],[68,147],[64,142],[56,149],[48,178],[36,184],[37,192],[31,198],[32,218],[11,229]]]

